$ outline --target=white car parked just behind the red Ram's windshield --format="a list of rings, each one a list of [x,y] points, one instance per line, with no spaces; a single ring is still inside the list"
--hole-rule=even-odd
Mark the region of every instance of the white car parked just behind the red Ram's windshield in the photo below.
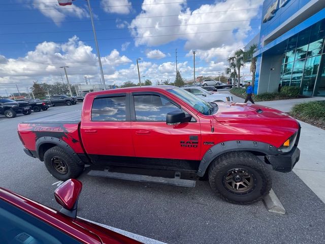
[[[207,90],[197,86],[186,86],[181,88],[187,90],[187,92],[190,92],[193,95],[200,97],[202,100],[206,102],[232,102],[233,101],[233,97],[230,94],[210,93]]]

